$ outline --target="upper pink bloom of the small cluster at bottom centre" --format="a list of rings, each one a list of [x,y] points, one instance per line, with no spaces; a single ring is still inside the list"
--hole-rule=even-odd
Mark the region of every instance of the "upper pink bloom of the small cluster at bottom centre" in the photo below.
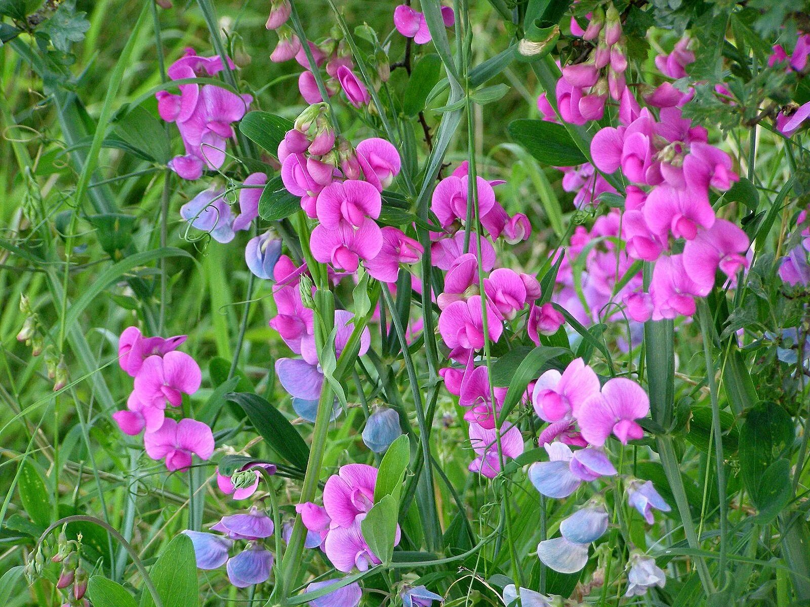
[[[330,476],[323,488],[323,507],[331,527],[351,527],[358,516],[362,519],[374,504],[376,484],[377,469],[365,464],[341,466]]]

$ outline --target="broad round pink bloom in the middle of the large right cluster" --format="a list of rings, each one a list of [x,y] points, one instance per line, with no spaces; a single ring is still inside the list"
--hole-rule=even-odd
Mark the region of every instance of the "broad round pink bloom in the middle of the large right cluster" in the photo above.
[[[647,197],[644,219],[650,231],[662,240],[666,240],[667,231],[676,238],[693,240],[698,227],[712,227],[714,210],[708,198],[701,200],[690,191],[661,185]]]

